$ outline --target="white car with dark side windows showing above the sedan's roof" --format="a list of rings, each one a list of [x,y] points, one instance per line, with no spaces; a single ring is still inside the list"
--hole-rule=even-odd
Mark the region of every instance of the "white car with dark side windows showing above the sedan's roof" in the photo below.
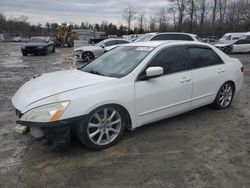
[[[147,33],[140,36],[134,42],[146,42],[155,40],[183,40],[183,41],[199,41],[197,35],[179,32],[166,33]]]

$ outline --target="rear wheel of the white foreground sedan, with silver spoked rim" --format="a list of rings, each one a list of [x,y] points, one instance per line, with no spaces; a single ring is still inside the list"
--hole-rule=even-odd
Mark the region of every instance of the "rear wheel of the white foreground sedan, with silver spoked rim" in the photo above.
[[[230,88],[230,89],[228,90],[227,94],[224,93],[224,90],[225,90],[226,87]],[[234,88],[233,83],[231,83],[231,82],[226,82],[226,83],[224,83],[224,84],[220,87],[220,89],[219,89],[219,91],[218,91],[218,93],[217,93],[217,95],[216,95],[216,98],[215,98],[215,100],[214,100],[214,102],[213,102],[213,106],[214,106],[215,108],[219,109],[219,110],[223,110],[223,109],[228,108],[228,107],[231,105],[232,101],[233,101],[234,92],[235,92],[235,88]],[[229,97],[230,95],[231,95],[230,99],[227,98],[227,97]],[[226,98],[227,98],[227,99],[226,99]],[[224,104],[223,100],[225,101],[225,104]]]

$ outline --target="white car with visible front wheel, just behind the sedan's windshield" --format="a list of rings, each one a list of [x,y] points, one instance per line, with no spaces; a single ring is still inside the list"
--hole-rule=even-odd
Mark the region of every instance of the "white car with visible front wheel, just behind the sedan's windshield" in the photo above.
[[[95,44],[94,46],[83,46],[76,48],[74,50],[74,56],[76,61],[82,61],[88,63],[93,59],[99,57],[100,55],[104,54],[105,52],[112,50],[118,45],[127,43],[130,42],[125,39],[118,39],[118,38],[106,39]]]

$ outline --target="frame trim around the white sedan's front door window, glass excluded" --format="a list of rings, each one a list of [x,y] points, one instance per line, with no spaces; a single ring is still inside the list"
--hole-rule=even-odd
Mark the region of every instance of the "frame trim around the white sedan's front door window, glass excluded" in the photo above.
[[[163,50],[166,50],[166,49],[168,49],[168,48],[174,48],[174,47],[183,47],[183,49],[184,49],[184,55],[185,55],[185,57],[188,59],[189,58],[189,56],[188,56],[188,54],[187,54],[187,50],[186,50],[186,45],[184,45],[184,44],[177,44],[177,45],[173,45],[173,46],[166,46],[166,47],[163,47],[162,49],[160,49],[156,54],[154,54],[153,55],[153,57],[151,57],[151,59],[146,63],[146,65],[141,69],[141,71],[139,72],[139,74],[137,75],[137,77],[136,77],[136,79],[135,79],[135,82],[137,82],[137,81],[145,81],[145,80],[141,80],[141,77],[142,77],[142,75],[146,72],[146,69],[148,68],[148,65],[153,61],[153,59],[159,54],[159,53],[161,53]],[[186,70],[182,70],[182,71],[178,71],[178,72],[173,72],[173,73],[169,73],[169,74],[163,74],[163,75],[161,75],[161,76],[159,76],[159,77],[166,77],[166,76],[171,76],[171,75],[173,75],[173,74],[178,74],[178,73],[181,73],[181,72],[187,72],[187,71],[190,71],[189,69],[188,69],[188,63],[189,63],[189,59],[186,61]],[[159,78],[159,77],[156,77],[156,78]],[[154,79],[154,78],[152,78],[152,79]]]

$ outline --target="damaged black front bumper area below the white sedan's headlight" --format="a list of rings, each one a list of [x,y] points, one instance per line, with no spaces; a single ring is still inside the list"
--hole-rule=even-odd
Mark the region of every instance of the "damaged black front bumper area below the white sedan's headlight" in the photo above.
[[[72,132],[76,130],[80,122],[85,120],[86,116],[70,118],[50,123],[37,123],[18,120],[17,124],[27,126],[31,136],[39,136],[39,140],[45,141],[52,150],[63,149],[70,145]],[[42,134],[41,134],[42,133]],[[36,134],[32,135],[32,134]]]

